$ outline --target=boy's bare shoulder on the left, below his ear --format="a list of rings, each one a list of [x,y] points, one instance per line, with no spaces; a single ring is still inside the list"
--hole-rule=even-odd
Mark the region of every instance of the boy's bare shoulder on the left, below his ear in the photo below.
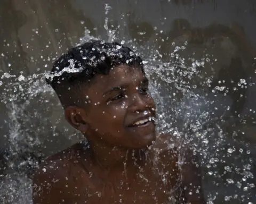
[[[75,145],[47,158],[39,166],[33,179],[33,201],[35,204],[74,201],[76,196],[74,189],[80,189],[82,181],[84,185],[88,179],[86,168],[79,165],[78,156],[80,154],[79,147]],[[77,192],[80,193],[79,190]]]

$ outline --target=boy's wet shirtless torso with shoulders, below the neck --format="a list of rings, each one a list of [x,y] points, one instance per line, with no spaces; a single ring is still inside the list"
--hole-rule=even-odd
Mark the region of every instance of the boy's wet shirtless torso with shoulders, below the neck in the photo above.
[[[138,161],[106,169],[85,142],[77,143],[41,165],[34,203],[183,203],[178,151],[162,147],[156,143]]]

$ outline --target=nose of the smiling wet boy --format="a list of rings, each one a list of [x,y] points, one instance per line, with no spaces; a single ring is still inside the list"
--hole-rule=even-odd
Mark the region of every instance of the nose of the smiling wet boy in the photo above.
[[[155,103],[151,96],[144,96],[139,93],[133,95],[132,104],[130,106],[131,112],[151,111],[153,108],[155,108]]]

